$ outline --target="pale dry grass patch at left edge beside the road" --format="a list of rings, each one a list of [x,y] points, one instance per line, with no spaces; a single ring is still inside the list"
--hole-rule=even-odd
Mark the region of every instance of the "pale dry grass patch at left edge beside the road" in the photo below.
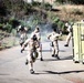
[[[0,51],[9,49],[19,44],[19,39],[15,37],[8,37],[9,33],[0,31]]]

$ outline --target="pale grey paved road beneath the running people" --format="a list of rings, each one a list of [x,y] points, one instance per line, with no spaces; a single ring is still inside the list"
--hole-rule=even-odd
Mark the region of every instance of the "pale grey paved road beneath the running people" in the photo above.
[[[51,56],[50,42],[42,45],[44,61],[38,58],[34,74],[24,64],[27,53],[20,53],[20,46],[0,51],[0,83],[84,83],[84,65],[73,62],[72,43],[65,48],[60,41],[61,60]]]

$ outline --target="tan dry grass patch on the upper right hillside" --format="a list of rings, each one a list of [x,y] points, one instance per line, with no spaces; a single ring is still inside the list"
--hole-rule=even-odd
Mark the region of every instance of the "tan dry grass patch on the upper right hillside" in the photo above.
[[[56,6],[54,7],[53,14],[60,17],[61,20],[75,20],[80,21],[84,18],[84,6]]]

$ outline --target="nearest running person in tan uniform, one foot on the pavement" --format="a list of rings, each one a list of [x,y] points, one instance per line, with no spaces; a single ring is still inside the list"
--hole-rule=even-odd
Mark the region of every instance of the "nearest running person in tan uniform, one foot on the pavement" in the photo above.
[[[28,44],[28,48],[25,46]],[[21,49],[21,53],[24,51],[24,49],[27,48],[27,62],[25,64],[29,63],[29,70],[30,73],[33,74],[34,70],[33,70],[33,63],[35,62],[36,58],[38,58],[38,48],[40,46],[40,43],[36,39],[35,35],[33,35],[32,38],[28,39]]]

